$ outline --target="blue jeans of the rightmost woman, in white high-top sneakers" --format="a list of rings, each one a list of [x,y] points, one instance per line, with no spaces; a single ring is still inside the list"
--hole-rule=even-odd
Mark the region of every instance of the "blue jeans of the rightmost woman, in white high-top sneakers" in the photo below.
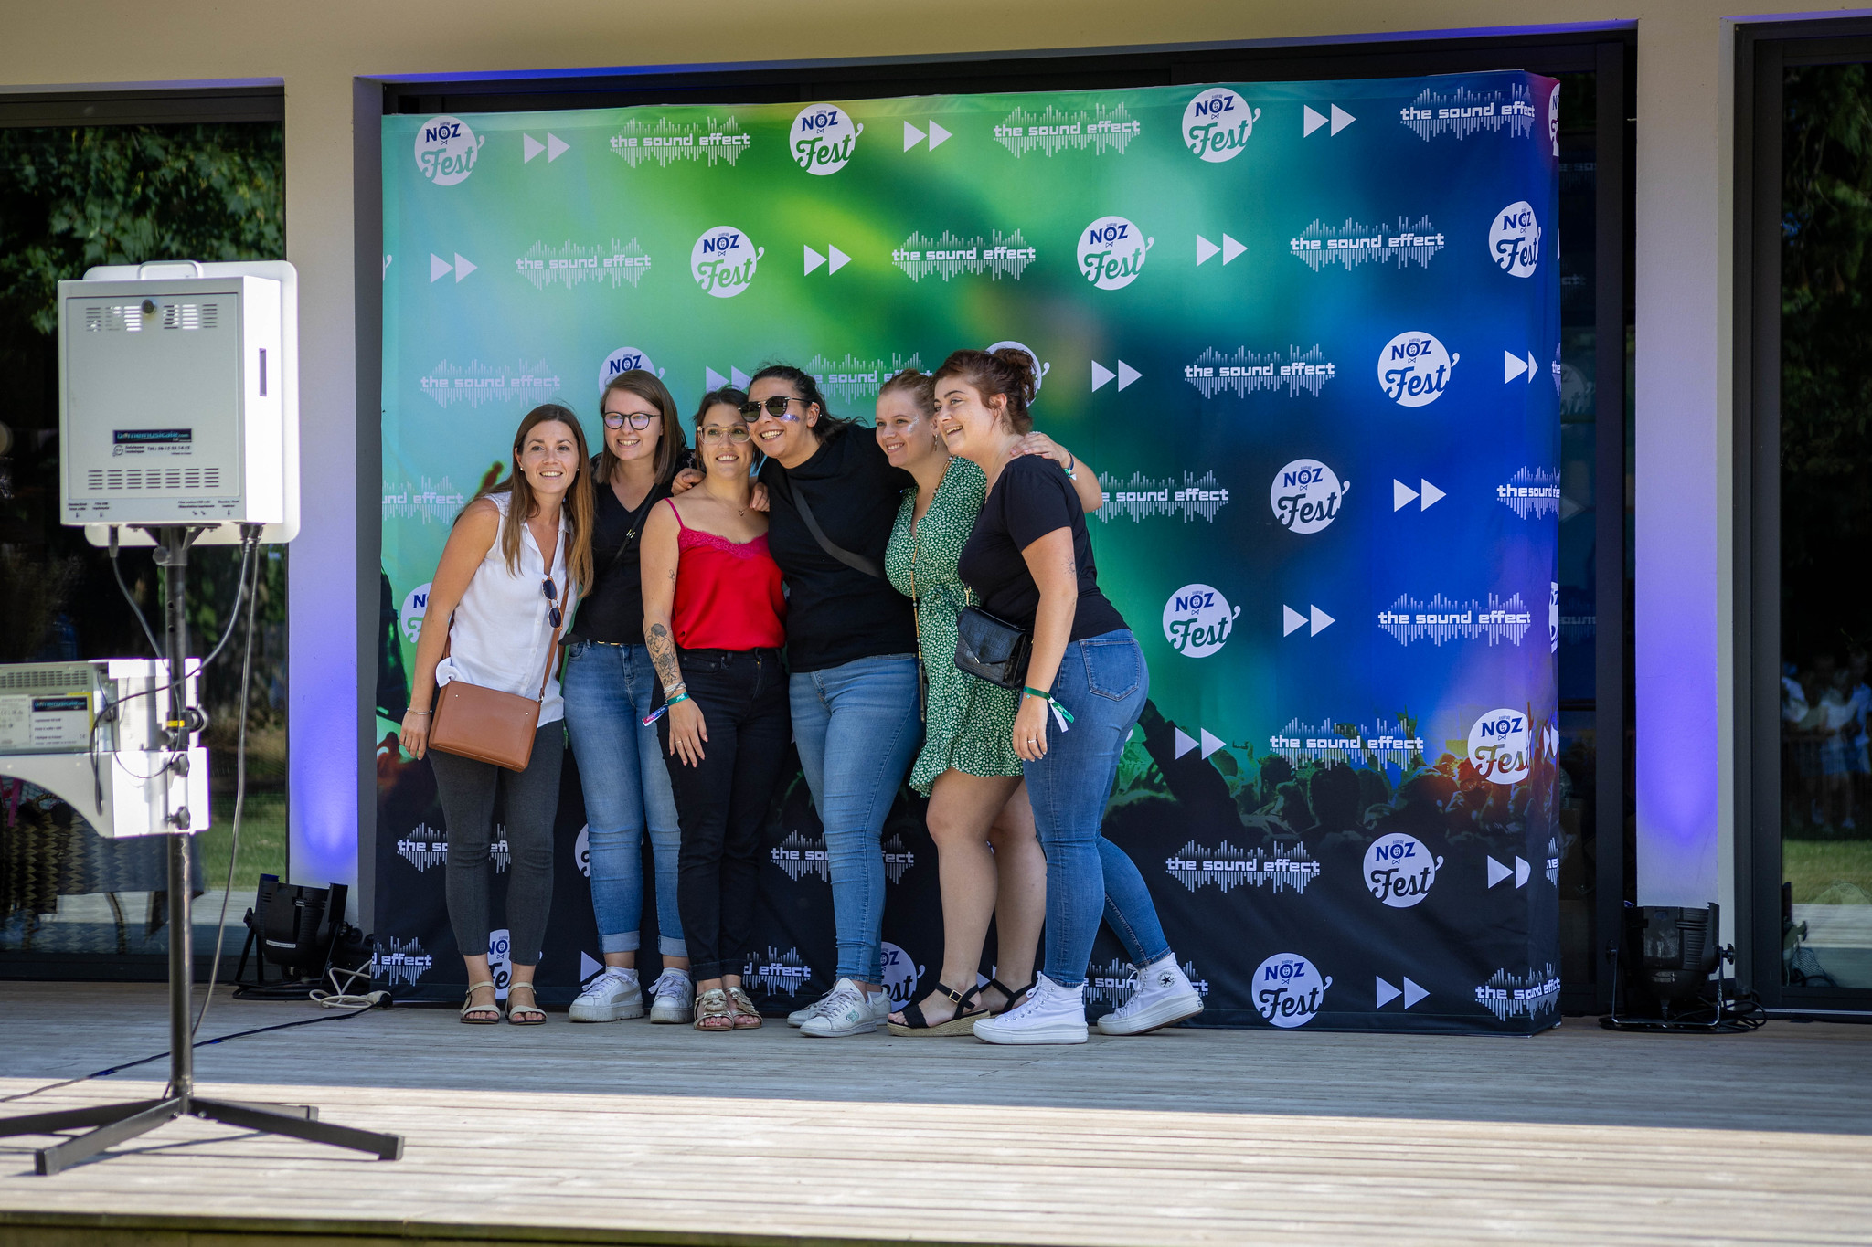
[[[1112,924],[1138,967],[1170,952],[1144,875],[1099,828],[1131,729],[1144,712],[1151,673],[1129,630],[1069,641],[1052,695],[1073,716],[1046,722],[1046,757],[1022,763],[1033,824],[1046,851],[1046,978],[1086,982],[1099,918]]]

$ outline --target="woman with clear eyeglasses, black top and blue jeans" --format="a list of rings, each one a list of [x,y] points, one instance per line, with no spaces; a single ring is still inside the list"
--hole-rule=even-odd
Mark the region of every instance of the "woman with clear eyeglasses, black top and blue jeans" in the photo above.
[[[651,1023],[687,1023],[695,1002],[689,946],[676,907],[681,834],[651,710],[655,671],[644,649],[644,525],[670,495],[687,458],[676,400],[653,372],[620,372],[599,398],[605,449],[592,464],[592,565],[597,578],[565,643],[565,731],[578,759],[590,843],[592,910],[605,968],[573,1000],[571,1021],[612,1023],[644,1015],[636,974],[644,910],[644,832],[655,862],[657,952],[663,972],[650,987]]]

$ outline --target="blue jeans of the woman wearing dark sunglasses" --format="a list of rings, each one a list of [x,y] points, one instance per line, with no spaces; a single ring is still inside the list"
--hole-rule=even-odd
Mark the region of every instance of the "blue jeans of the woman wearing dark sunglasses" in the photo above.
[[[915,654],[878,654],[788,681],[794,742],[826,826],[839,978],[882,974],[884,819],[923,744]]]

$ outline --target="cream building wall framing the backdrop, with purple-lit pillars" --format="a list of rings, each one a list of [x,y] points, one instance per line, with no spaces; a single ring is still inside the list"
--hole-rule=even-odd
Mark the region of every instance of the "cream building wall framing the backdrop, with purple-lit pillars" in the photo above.
[[[1202,41],[1503,34],[1535,13],[1477,0],[326,0],[11,6],[0,92],[271,79],[286,93],[288,258],[300,269],[305,533],[294,544],[292,873],[356,881],[374,684],[376,464],[359,471],[354,79],[878,58]],[[1748,9],[1793,15],[1767,2]],[[1844,11],[1812,13],[1840,17]],[[1735,15],[1717,0],[1556,0],[1558,24],[1638,28],[1636,716],[1638,894],[1733,912],[1730,189]],[[374,421],[374,411],[363,419]],[[371,452],[374,439],[363,445]],[[374,454],[371,454],[374,460]],[[363,479],[359,497],[359,477]],[[363,523],[359,522],[363,516]],[[359,574],[361,572],[361,574]],[[359,589],[361,587],[361,589]],[[359,596],[365,600],[359,602]],[[359,611],[359,606],[363,611]],[[369,722],[369,720],[365,720]]]

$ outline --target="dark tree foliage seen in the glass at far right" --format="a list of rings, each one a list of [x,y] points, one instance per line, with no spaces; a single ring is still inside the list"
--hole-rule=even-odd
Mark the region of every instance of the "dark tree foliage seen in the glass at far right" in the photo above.
[[[1872,82],[1786,71],[1782,116],[1782,585],[1786,656],[1872,639]]]

